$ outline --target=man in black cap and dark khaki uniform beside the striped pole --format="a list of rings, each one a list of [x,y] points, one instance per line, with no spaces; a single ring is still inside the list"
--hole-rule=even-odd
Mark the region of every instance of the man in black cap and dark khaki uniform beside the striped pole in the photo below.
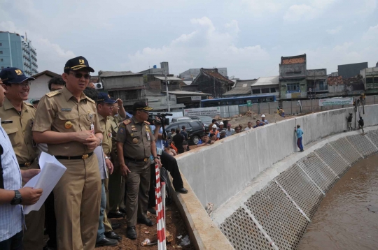
[[[161,166],[156,154],[156,144],[151,132],[148,111],[153,110],[144,101],[134,103],[133,117],[120,124],[117,133],[117,152],[120,172],[126,177],[126,217],[130,239],[137,239],[137,221],[147,226],[153,222],[147,218],[148,190],[150,188],[150,155]]]

